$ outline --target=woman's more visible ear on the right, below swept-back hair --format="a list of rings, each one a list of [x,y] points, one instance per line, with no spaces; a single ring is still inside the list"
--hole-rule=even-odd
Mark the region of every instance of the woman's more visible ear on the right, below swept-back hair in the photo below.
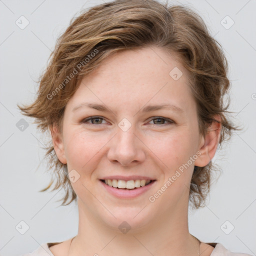
[[[217,121],[213,120],[207,129],[205,137],[201,136],[200,138],[198,150],[201,154],[194,161],[194,165],[199,167],[206,166],[217,150],[221,131],[221,117],[215,115],[213,118]]]

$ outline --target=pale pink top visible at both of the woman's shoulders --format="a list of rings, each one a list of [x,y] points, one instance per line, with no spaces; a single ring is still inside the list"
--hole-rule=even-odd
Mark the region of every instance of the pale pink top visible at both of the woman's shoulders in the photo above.
[[[45,242],[42,243],[37,249],[30,253],[22,254],[20,256],[54,256],[49,247],[60,242]],[[205,242],[214,247],[210,256],[252,256],[251,254],[231,252],[227,250],[221,243]]]

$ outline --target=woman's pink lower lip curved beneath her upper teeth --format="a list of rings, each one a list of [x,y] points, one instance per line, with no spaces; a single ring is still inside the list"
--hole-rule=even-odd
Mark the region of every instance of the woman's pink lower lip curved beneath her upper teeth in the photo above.
[[[135,189],[121,189],[121,188],[115,188],[112,186],[109,186],[107,184],[105,184],[104,182],[100,181],[99,182],[105,187],[105,189],[112,195],[119,197],[119,198],[134,198],[136,196],[139,196],[140,194],[146,192],[148,189],[151,188],[151,186],[154,184],[154,181],[151,181],[149,184],[145,185],[145,186],[140,186],[138,188]]]

